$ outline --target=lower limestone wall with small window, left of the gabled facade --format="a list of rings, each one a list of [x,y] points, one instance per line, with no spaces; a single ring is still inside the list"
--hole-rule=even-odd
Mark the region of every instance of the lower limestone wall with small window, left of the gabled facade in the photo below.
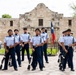
[[[13,21],[13,26],[10,26],[10,21]],[[19,19],[0,19],[0,40],[3,41],[7,36],[8,29],[14,30],[15,28],[19,29]]]

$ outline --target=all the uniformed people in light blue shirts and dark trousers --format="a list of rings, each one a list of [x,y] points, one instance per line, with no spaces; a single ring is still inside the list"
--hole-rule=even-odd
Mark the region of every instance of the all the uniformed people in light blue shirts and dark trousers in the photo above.
[[[11,29],[8,30],[8,36],[4,38],[4,48],[5,48],[5,62],[4,68],[2,70],[8,70],[8,61],[9,56],[12,59],[12,66],[15,71],[18,71],[18,66],[22,67],[22,61],[24,61],[25,50],[27,53],[28,63],[30,63],[30,48],[32,49],[32,71],[36,70],[37,64],[39,64],[40,71],[43,71],[45,68],[43,55],[45,57],[46,63],[48,62],[47,56],[47,44],[49,36],[45,28],[41,30],[39,28],[35,29],[35,35],[33,37],[28,33],[27,28],[23,28],[23,34],[19,34],[19,30],[15,29],[14,33]],[[76,39],[71,35],[71,29],[67,29],[62,32],[63,36],[61,36],[58,40],[60,55],[64,56],[59,67],[60,71],[65,71],[66,64],[71,71],[74,70],[73,65],[73,47],[76,46]],[[20,54],[20,51],[22,52]],[[17,59],[16,57],[17,56]],[[18,63],[18,64],[17,64]]]

